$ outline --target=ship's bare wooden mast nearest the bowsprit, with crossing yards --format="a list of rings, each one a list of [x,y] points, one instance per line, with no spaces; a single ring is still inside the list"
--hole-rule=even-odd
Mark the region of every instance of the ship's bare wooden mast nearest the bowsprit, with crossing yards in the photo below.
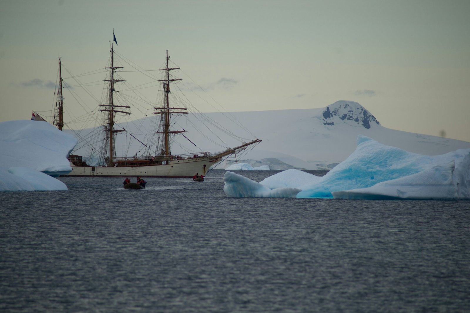
[[[170,131],[170,115],[171,114],[188,114],[188,112],[181,112],[181,111],[173,111],[173,110],[187,110],[185,107],[170,107],[169,95],[170,95],[170,82],[181,80],[181,78],[173,78],[170,79],[170,71],[173,69],[180,69],[180,68],[170,68],[168,64],[168,60],[170,57],[168,56],[168,50],[166,50],[166,68],[160,69],[161,71],[166,71],[165,79],[159,79],[159,82],[163,82],[163,91],[165,92],[164,95],[164,105],[163,107],[154,107],[154,109],[158,110],[158,112],[154,112],[154,114],[161,114],[162,120],[164,121],[164,130],[158,131],[157,134],[164,134],[164,156],[171,155],[170,149],[170,134],[177,134],[177,133],[184,133],[184,130],[173,130]]]

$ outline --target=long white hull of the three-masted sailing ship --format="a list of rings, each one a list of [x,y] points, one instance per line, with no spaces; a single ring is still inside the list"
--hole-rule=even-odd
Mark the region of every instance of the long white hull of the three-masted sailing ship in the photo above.
[[[196,173],[206,174],[206,171],[220,159],[199,157],[193,159],[171,160],[166,164],[147,166],[75,166],[70,164],[72,171],[67,176],[145,176],[145,177],[193,177]]]

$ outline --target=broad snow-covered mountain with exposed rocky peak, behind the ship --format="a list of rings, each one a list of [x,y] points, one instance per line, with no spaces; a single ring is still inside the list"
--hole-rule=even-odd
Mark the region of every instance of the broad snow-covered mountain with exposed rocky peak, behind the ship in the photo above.
[[[243,125],[251,132],[243,136],[247,142],[254,138],[263,140],[246,154],[237,156],[237,160],[274,158],[293,168],[318,169],[317,164],[328,167],[329,164],[345,160],[356,149],[358,135],[370,137],[384,145],[425,155],[439,155],[470,147],[470,143],[465,141],[385,128],[372,113],[354,101],[341,100],[323,108],[204,115],[234,134],[240,134],[243,129],[240,124]],[[233,120],[239,125],[233,123]],[[225,134],[221,131],[212,134],[204,131],[207,125],[202,121],[204,119],[198,113],[188,114],[188,121],[184,124],[182,121],[176,121],[180,128],[187,130],[185,136],[191,142],[185,137],[177,139],[172,146],[173,154],[185,153],[183,148],[195,152],[217,152],[227,146],[240,144],[239,141],[227,137],[223,138],[225,146],[216,145],[214,137],[222,137]],[[133,132],[134,125],[149,123],[150,128],[151,122],[142,119],[120,126]],[[207,134],[213,137],[206,137]],[[179,152],[179,149],[182,151]],[[129,150],[129,154],[135,152],[137,150]]]

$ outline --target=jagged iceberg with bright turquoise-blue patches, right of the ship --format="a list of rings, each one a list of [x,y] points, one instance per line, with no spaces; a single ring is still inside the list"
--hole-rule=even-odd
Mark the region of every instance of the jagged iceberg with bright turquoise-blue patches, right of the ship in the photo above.
[[[227,172],[227,196],[470,200],[470,148],[422,155],[360,135],[356,150],[325,176],[289,169],[260,183],[247,180]]]

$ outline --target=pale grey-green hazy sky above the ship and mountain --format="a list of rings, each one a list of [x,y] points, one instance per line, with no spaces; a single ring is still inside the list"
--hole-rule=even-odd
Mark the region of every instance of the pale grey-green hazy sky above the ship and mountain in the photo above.
[[[1,0],[0,122],[51,108],[59,55],[74,75],[108,66],[114,31],[141,68],[168,49],[229,112],[352,100],[384,127],[470,142],[469,14],[468,0]]]

